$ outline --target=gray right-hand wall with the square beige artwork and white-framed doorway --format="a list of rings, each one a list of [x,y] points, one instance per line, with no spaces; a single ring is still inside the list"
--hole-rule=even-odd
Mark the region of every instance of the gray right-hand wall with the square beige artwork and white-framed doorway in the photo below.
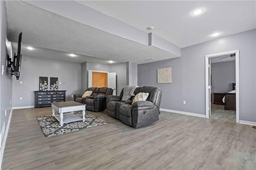
[[[205,115],[205,55],[239,49],[240,120],[256,122],[255,48],[255,29],[184,47],[181,57],[138,65],[138,85],[160,87],[163,109]],[[157,84],[157,69],[164,67],[172,67],[172,83]]]

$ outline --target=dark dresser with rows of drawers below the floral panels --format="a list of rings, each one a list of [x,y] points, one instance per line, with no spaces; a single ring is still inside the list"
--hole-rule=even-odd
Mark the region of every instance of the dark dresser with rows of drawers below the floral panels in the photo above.
[[[52,103],[66,101],[66,90],[35,91],[35,107],[50,107]]]

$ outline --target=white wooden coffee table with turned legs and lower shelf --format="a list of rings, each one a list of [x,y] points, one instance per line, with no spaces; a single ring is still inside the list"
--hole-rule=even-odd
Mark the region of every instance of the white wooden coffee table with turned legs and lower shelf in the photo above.
[[[52,103],[52,116],[60,122],[60,126],[63,126],[63,123],[70,123],[75,121],[85,121],[85,104],[78,103],[76,101],[64,101]],[[60,114],[55,115],[55,110]],[[73,113],[73,111],[83,111],[83,118]],[[66,113],[71,112],[71,113]],[[63,114],[66,113],[66,114]]]

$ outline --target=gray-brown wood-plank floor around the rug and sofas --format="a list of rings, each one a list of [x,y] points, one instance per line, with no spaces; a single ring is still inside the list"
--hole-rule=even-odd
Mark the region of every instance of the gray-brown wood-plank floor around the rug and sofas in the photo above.
[[[161,112],[148,127],[109,123],[45,137],[36,119],[51,108],[13,110],[2,169],[256,169],[256,129],[250,125]]]

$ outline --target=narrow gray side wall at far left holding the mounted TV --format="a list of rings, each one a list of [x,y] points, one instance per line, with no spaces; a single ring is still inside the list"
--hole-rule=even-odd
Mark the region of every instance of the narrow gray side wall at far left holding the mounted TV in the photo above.
[[[12,108],[12,104],[10,101],[12,100],[12,78],[10,75],[10,70],[6,67],[6,59],[7,59],[7,49],[6,49],[6,37],[7,37],[7,18],[6,18],[6,8],[5,2],[0,1],[0,20],[1,22],[1,29],[0,29],[0,39],[1,39],[1,69],[2,65],[4,65],[4,74],[0,73],[0,132],[6,133],[6,125],[8,123],[8,119],[10,117],[10,112]],[[18,37],[17,37],[18,38]],[[5,115],[6,111],[6,115]],[[4,125],[5,124],[5,125]],[[2,138],[4,137],[4,133],[2,134]],[[2,146],[2,139],[1,146]],[[2,149],[3,147],[1,147]],[[1,150],[3,152],[3,150]]]

